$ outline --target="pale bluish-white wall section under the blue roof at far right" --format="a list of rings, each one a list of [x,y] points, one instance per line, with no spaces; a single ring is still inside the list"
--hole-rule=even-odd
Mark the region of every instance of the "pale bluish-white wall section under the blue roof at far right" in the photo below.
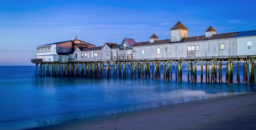
[[[238,55],[256,55],[256,37],[238,38]],[[251,50],[247,49],[247,41],[251,41]]]

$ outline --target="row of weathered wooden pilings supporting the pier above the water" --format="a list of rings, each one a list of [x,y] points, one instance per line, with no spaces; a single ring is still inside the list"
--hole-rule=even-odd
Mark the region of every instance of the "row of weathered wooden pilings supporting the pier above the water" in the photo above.
[[[198,82],[197,66],[201,65],[200,82],[223,83],[222,66],[226,64],[225,83],[233,84],[233,66],[237,64],[237,83],[240,83],[240,64],[243,64],[243,81],[255,83],[254,57],[226,59],[180,59],[180,60],[134,60],[134,61],[72,61],[69,63],[37,61],[35,75],[40,76],[84,76],[84,77],[121,77],[123,79],[173,79],[182,82],[183,67],[187,66],[187,82]],[[152,68],[151,68],[151,67]],[[205,67],[204,67],[205,66]],[[249,70],[247,69],[249,67]],[[161,69],[162,68],[162,69]],[[205,68],[205,69],[204,69]],[[130,70],[130,73],[129,73]],[[163,72],[161,72],[163,70]],[[204,73],[205,71],[205,73]],[[151,76],[152,72],[152,76]],[[113,73],[113,74],[112,74]],[[249,73],[249,74],[248,74]],[[248,80],[249,79],[249,80]]]

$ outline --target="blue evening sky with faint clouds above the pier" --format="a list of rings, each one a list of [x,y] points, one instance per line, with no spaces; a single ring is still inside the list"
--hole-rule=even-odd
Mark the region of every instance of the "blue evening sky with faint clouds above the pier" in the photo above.
[[[30,66],[36,47],[78,39],[96,46],[123,38],[169,39],[178,21],[188,36],[256,30],[256,1],[0,1],[0,66]]]

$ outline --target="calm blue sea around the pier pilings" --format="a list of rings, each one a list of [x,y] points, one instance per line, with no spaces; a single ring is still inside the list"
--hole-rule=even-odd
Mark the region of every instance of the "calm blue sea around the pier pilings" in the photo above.
[[[35,67],[0,67],[0,129],[45,126],[254,91],[254,86],[243,83],[240,67],[240,85],[236,66],[233,85],[200,83],[200,66],[197,83],[187,83],[186,66],[183,82],[175,81],[174,70],[173,80],[164,81],[35,76]]]

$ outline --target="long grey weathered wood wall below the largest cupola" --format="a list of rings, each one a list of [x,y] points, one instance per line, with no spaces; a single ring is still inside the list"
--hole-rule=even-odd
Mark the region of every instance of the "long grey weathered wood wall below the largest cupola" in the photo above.
[[[220,50],[220,44],[225,44],[224,50]],[[195,56],[187,56],[187,47],[195,46]],[[196,51],[196,46],[199,46],[199,51]],[[160,48],[160,54],[157,54],[157,48]],[[166,49],[167,48],[167,49]],[[145,49],[145,55],[142,54],[142,49]],[[198,42],[186,42],[177,44],[164,44],[134,47],[136,54],[134,59],[156,59],[156,58],[203,58],[203,57],[224,57],[237,55],[237,39],[222,39]]]

